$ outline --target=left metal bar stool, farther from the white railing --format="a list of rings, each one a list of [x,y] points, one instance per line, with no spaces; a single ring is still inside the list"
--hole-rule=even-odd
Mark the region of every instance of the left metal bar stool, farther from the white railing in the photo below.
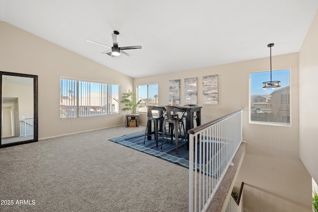
[[[160,131],[159,131],[159,121],[163,121],[164,120],[164,116],[163,115],[164,115],[165,108],[164,107],[160,107],[160,106],[147,106],[147,110],[148,110],[148,115],[147,115],[148,117],[147,117],[147,125],[146,125],[144,144],[146,142],[146,137],[147,136],[155,135],[156,145],[157,145],[157,148],[158,148],[158,135],[160,133]],[[157,110],[159,115],[154,116],[153,115],[153,110]],[[154,121],[154,131],[152,131],[151,129],[148,128],[149,126],[152,125],[152,121]],[[148,132],[148,130],[149,130],[149,132]]]

